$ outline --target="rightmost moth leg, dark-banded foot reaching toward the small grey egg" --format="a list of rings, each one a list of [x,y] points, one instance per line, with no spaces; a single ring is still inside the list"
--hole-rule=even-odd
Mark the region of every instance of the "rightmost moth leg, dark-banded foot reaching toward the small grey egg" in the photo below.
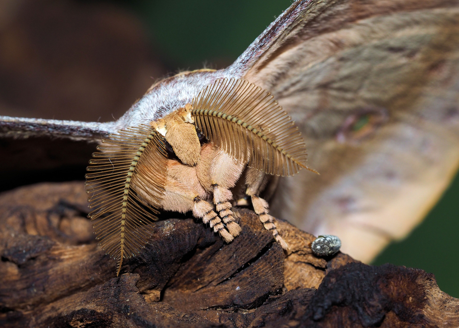
[[[288,249],[287,243],[279,235],[277,226],[273,216],[269,215],[269,204],[263,198],[259,197],[259,193],[264,189],[268,182],[266,174],[257,169],[248,168],[246,173],[246,195],[252,198],[252,206],[255,213],[260,217],[260,221],[266,230],[273,233],[274,239],[280,244],[283,249]]]

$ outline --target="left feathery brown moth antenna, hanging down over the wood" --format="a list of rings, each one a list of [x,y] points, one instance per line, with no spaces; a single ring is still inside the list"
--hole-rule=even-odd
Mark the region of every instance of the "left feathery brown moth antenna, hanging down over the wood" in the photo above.
[[[167,153],[159,133],[142,125],[102,140],[86,174],[88,215],[102,249],[117,259],[135,256],[151,236],[164,193]],[[138,192],[151,197],[149,202]],[[153,202],[153,203],[151,203]]]

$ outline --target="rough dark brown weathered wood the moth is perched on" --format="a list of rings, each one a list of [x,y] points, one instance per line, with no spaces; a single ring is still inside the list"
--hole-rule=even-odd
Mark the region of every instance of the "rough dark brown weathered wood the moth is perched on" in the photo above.
[[[431,273],[315,257],[313,235],[257,215],[224,244],[195,219],[164,218],[139,257],[97,246],[81,182],[0,195],[1,327],[457,327],[459,300]]]

